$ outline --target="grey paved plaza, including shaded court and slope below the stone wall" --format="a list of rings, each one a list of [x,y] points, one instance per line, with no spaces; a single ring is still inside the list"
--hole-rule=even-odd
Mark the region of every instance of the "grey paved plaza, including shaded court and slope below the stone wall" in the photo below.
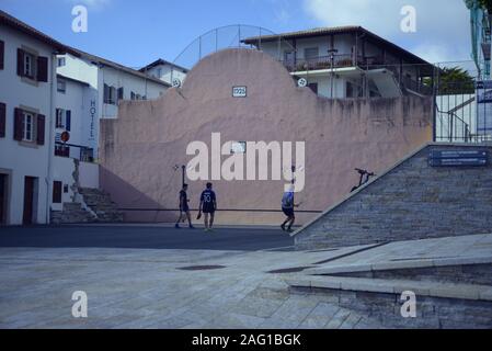
[[[314,286],[312,273],[401,268],[415,260],[436,265],[492,259],[492,235],[295,251],[288,235],[260,227],[0,233],[0,328],[380,328],[361,310],[341,307],[336,296],[293,291],[288,282],[308,279]],[[368,286],[344,280],[355,290]],[[88,295],[88,318],[72,316],[76,291]]]

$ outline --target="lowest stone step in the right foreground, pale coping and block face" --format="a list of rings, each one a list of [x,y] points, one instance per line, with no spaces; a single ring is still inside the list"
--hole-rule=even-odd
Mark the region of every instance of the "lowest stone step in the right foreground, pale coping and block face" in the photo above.
[[[388,328],[492,328],[491,285],[307,275],[286,283],[294,294],[322,294]],[[411,294],[415,318],[404,315]]]

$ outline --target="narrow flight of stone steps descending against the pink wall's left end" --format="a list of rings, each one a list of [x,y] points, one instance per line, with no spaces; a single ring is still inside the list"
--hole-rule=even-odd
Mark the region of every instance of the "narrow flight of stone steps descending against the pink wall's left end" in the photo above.
[[[83,196],[87,206],[98,216],[96,222],[123,222],[123,213],[118,211],[110,194],[99,189],[89,188],[79,188],[79,193]]]

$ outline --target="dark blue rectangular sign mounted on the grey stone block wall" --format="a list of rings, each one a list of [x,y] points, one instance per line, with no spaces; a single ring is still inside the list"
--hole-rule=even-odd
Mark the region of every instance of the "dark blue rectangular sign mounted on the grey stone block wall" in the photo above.
[[[431,167],[483,167],[489,165],[488,150],[433,150],[428,156]]]

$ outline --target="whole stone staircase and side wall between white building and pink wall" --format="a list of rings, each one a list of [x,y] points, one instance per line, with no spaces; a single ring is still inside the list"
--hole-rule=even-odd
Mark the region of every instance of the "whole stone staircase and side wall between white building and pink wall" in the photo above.
[[[123,213],[107,193],[99,189],[79,188],[82,203],[64,203],[64,211],[52,211],[52,224],[121,223]]]

